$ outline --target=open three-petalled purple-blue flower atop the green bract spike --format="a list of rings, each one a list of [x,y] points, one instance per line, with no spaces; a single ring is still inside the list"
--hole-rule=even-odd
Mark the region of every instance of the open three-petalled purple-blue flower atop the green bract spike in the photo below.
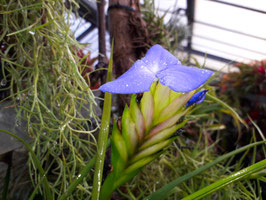
[[[180,61],[160,45],[154,45],[146,56],[114,81],[99,89],[116,94],[133,94],[149,91],[156,79],[175,92],[190,92],[197,89],[212,75],[206,69],[182,66]]]

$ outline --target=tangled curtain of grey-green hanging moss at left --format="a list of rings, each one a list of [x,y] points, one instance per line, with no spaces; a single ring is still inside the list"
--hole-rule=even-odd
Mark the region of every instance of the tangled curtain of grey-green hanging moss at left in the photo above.
[[[98,127],[95,97],[80,74],[86,67],[77,56],[82,47],[70,30],[72,11],[63,0],[1,0],[0,10],[2,79],[9,93],[2,101],[25,121],[50,188],[63,194],[95,154]],[[42,195],[42,178],[31,156],[28,165]],[[71,199],[88,194],[89,182],[84,180]]]

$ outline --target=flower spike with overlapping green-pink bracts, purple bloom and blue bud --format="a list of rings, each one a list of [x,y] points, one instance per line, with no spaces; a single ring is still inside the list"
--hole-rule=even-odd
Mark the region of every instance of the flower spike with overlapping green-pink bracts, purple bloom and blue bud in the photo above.
[[[112,171],[107,176],[100,199],[137,175],[142,167],[160,156],[186,124],[181,120],[190,106],[201,103],[207,90],[196,90],[212,72],[182,66],[160,45],[153,46],[125,74],[100,87],[103,92],[133,94],[121,120],[113,125]],[[142,93],[138,104],[134,93]]]

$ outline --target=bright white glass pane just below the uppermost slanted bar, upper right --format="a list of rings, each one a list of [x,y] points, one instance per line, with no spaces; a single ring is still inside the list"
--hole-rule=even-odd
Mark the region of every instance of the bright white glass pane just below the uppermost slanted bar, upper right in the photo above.
[[[197,0],[195,20],[266,39],[266,15],[213,1]]]

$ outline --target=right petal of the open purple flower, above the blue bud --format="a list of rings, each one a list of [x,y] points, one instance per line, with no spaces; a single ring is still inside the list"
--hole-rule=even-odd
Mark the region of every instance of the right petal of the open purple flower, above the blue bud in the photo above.
[[[160,83],[167,85],[175,92],[190,92],[205,83],[212,73],[206,69],[171,65],[158,72],[156,76]]]

